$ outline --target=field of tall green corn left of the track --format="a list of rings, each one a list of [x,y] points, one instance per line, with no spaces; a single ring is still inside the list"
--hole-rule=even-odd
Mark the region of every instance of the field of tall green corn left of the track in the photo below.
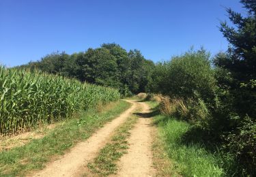
[[[114,88],[0,66],[0,134],[52,123],[119,97]]]

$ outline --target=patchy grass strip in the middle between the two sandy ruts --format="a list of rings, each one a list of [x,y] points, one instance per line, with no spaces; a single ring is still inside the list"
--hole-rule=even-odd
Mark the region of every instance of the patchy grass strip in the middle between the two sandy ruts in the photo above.
[[[89,176],[89,173],[93,173],[94,176],[109,176],[117,173],[117,161],[127,152],[129,131],[134,127],[137,120],[138,116],[132,115],[123,125],[117,127],[111,142],[100,150],[98,157],[93,162],[88,163],[87,167],[91,172],[84,174],[84,176]]]

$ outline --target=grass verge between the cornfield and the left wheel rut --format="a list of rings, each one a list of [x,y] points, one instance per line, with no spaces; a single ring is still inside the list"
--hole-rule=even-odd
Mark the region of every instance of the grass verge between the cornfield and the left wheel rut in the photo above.
[[[96,129],[129,107],[130,103],[117,101],[100,110],[94,108],[81,112],[65,120],[44,138],[0,152],[0,176],[25,176],[31,170],[42,169],[46,162],[63,155],[77,142],[86,140]]]

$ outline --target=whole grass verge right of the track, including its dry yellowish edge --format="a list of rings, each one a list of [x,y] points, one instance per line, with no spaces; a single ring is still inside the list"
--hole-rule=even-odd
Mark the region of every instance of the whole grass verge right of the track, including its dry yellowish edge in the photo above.
[[[158,103],[147,103],[157,111]],[[188,123],[159,112],[154,116],[154,124],[158,127],[153,146],[157,176],[225,176],[223,163],[229,161],[224,162],[221,155],[209,152],[203,144],[184,142],[184,136],[191,128]]]

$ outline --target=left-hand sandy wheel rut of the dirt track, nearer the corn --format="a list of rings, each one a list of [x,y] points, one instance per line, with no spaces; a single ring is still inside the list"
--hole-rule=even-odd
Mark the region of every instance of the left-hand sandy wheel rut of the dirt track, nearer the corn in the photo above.
[[[96,131],[87,141],[77,144],[70,152],[63,155],[61,159],[48,163],[44,170],[33,174],[33,176],[78,176],[78,172],[83,168],[83,165],[94,159],[98,150],[108,142],[115,128],[124,123],[132,111],[137,108],[137,102],[128,102],[132,103],[132,107],[126,110],[126,112],[104,125],[102,129]]]

